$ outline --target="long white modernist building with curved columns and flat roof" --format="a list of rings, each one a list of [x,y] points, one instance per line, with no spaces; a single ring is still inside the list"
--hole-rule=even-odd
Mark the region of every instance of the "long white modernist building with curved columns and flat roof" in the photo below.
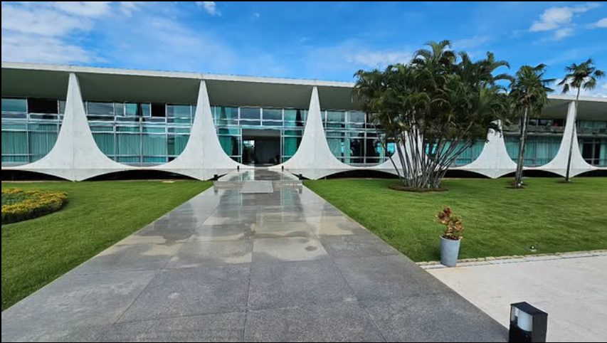
[[[3,62],[2,170],[71,181],[122,171],[204,180],[260,166],[309,179],[394,174],[394,146],[382,148],[381,132],[352,101],[353,86]],[[572,131],[572,174],[607,169],[607,99],[581,99],[577,125],[572,100],[551,96],[532,120],[528,170],[564,175]],[[517,132],[488,132],[452,169],[511,174]]]

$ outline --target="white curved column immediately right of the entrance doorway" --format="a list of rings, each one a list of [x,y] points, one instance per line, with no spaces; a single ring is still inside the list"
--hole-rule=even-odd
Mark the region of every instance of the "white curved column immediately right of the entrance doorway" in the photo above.
[[[295,155],[287,162],[271,167],[290,171],[292,174],[301,174],[308,179],[321,179],[324,176],[337,174],[341,171],[358,169],[340,162],[329,149],[327,137],[322,126],[320,100],[318,89],[312,89],[310,110],[307,113],[305,130],[302,142]]]

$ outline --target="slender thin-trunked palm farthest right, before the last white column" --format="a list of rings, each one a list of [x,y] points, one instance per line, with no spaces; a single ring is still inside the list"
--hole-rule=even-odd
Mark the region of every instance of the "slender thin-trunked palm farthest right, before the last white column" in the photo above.
[[[588,58],[586,62],[580,64],[572,64],[565,67],[567,72],[565,78],[559,82],[563,86],[563,94],[569,93],[571,88],[578,90],[576,95],[576,112],[574,113],[574,128],[576,127],[576,117],[578,115],[579,93],[582,89],[593,90],[596,88],[596,80],[603,78],[605,73],[602,70],[596,69],[592,58]],[[571,156],[574,152],[575,130],[571,130],[571,141],[569,143],[569,156],[567,157],[567,173],[565,181],[571,181]]]

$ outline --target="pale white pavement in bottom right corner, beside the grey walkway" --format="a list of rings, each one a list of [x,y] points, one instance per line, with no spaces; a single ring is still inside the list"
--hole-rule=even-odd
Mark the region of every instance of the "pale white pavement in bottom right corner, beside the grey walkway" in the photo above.
[[[428,273],[505,326],[510,304],[527,301],[548,312],[549,342],[607,339],[607,254],[428,269]]]

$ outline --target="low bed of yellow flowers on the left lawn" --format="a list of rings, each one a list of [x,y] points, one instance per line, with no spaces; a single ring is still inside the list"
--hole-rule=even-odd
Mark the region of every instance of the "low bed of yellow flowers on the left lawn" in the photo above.
[[[11,201],[11,199],[19,202]],[[21,199],[23,200],[21,201]],[[7,189],[2,191],[2,204],[2,224],[4,225],[27,221],[59,211],[65,204],[68,204],[68,194]]]

